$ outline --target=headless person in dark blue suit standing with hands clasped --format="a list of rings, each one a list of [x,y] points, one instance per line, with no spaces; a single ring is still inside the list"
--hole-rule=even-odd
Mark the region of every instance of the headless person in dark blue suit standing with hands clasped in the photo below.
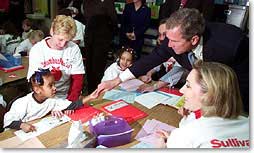
[[[121,21],[121,45],[128,45],[136,51],[140,58],[144,44],[144,33],[151,20],[151,9],[144,0],[133,0],[126,4]]]

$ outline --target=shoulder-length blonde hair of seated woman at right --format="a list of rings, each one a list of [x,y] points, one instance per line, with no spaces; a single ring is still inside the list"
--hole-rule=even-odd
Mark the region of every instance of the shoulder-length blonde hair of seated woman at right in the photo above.
[[[202,96],[202,115],[236,118],[242,111],[242,99],[237,76],[232,68],[217,62],[197,61],[193,69]]]

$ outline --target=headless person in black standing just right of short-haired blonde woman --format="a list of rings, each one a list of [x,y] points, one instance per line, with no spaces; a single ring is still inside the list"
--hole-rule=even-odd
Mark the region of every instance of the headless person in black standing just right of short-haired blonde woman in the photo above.
[[[86,74],[88,93],[101,82],[107,64],[108,52],[112,50],[117,14],[114,0],[84,0]]]

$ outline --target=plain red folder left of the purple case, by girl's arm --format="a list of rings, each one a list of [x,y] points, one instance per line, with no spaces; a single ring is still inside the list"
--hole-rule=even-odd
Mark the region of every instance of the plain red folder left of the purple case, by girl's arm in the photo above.
[[[83,107],[76,109],[73,114],[68,116],[74,121],[81,120],[82,123],[85,123],[99,113],[101,113],[101,110],[98,110],[92,106],[84,105]]]

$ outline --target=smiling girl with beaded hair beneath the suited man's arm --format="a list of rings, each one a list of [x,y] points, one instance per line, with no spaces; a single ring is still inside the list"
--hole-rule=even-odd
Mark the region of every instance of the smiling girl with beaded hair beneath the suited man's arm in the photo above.
[[[134,50],[130,47],[122,47],[119,50],[116,62],[111,64],[106,69],[101,82],[116,78],[120,73],[122,73],[124,70],[130,67],[134,62],[134,60],[135,60]]]

